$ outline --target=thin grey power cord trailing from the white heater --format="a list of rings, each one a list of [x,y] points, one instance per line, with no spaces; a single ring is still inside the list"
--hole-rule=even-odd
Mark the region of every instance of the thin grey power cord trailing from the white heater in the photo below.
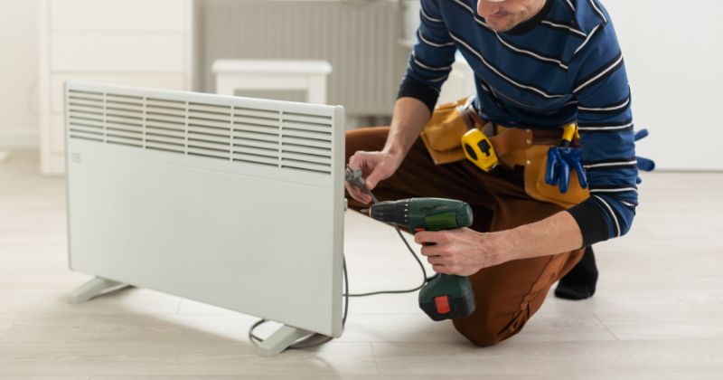
[[[347,167],[344,179],[347,182],[349,182],[350,184],[356,185],[357,187],[362,189],[362,191],[364,193],[371,195],[371,204],[379,203],[379,200],[377,199],[377,197],[374,196],[373,194],[371,194],[371,191],[369,191],[367,189],[366,183],[362,178],[362,170],[360,170],[360,169],[352,170],[351,168]],[[411,253],[414,260],[417,261],[417,263],[419,264],[419,269],[421,269],[421,271],[422,271],[422,283],[419,284],[418,287],[413,288],[413,289],[408,289],[408,290],[377,290],[377,291],[371,291],[368,293],[350,293],[349,292],[349,271],[347,271],[347,269],[346,269],[346,257],[344,256],[344,254],[342,254],[343,277],[344,277],[344,292],[343,292],[344,311],[343,311],[343,317],[342,317],[342,327],[344,327],[346,325],[346,317],[349,313],[349,299],[351,297],[368,297],[368,296],[376,296],[379,294],[411,293],[413,291],[422,289],[422,287],[424,287],[427,284],[427,282],[429,282],[430,280],[434,280],[439,275],[437,273],[432,277],[427,277],[427,270],[425,269],[424,264],[422,264],[422,261],[419,260],[417,253],[414,252],[411,245],[409,245],[409,242],[407,241],[407,239],[401,233],[401,229],[399,229],[399,225],[396,225],[396,224],[392,224],[392,225],[394,226],[397,233],[399,234],[399,238],[401,239],[401,241],[404,242],[404,245],[407,246],[409,253]],[[251,327],[249,328],[249,341],[251,342],[252,345],[258,347],[258,344],[264,341],[264,339],[262,339],[261,337],[258,337],[254,334],[254,330],[256,328],[258,328],[258,326],[261,326],[266,322],[268,322],[268,319],[259,319],[256,323],[251,325]],[[289,348],[301,349],[301,348],[317,347],[317,346],[321,346],[324,343],[331,341],[332,339],[333,339],[333,337],[328,337],[328,336],[325,336],[322,334],[314,333],[314,334],[309,335],[308,337],[303,337],[303,338],[297,340],[296,343],[289,346]]]

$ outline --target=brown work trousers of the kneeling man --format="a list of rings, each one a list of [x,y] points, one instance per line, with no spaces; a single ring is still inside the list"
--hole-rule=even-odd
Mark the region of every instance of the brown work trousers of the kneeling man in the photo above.
[[[389,128],[362,128],[346,133],[346,161],[359,150],[380,150]],[[498,168],[485,173],[466,160],[436,166],[418,139],[399,170],[373,190],[383,200],[433,196],[466,202],[474,212],[472,229],[501,231],[544,219],[563,210],[557,204],[532,199],[524,191],[524,168]],[[352,208],[362,204],[352,202]],[[550,286],[582,258],[582,250],[508,261],[484,268],[469,279],[477,308],[469,318],[453,322],[478,346],[491,346],[521,331],[540,309]]]

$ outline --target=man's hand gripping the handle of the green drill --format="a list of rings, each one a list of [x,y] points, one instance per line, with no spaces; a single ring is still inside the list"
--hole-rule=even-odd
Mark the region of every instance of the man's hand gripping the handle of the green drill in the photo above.
[[[493,246],[493,233],[478,233],[469,228],[447,231],[421,231],[414,241],[424,245],[422,254],[439,273],[469,276],[483,268],[510,261]]]

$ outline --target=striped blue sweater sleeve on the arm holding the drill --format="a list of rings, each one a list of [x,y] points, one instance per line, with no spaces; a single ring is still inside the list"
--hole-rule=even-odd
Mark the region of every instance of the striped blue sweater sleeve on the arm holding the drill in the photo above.
[[[627,233],[638,204],[630,87],[615,30],[600,24],[581,45],[577,67],[577,125],[590,197],[568,210],[583,245]]]

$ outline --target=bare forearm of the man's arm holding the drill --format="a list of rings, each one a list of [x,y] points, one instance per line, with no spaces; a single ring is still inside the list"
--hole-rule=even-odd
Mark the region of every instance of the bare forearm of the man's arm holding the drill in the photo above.
[[[500,254],[503,261],[569,252],[582,246],[580,229],[567,211],[490,235],[496,247],[493,252]]]

